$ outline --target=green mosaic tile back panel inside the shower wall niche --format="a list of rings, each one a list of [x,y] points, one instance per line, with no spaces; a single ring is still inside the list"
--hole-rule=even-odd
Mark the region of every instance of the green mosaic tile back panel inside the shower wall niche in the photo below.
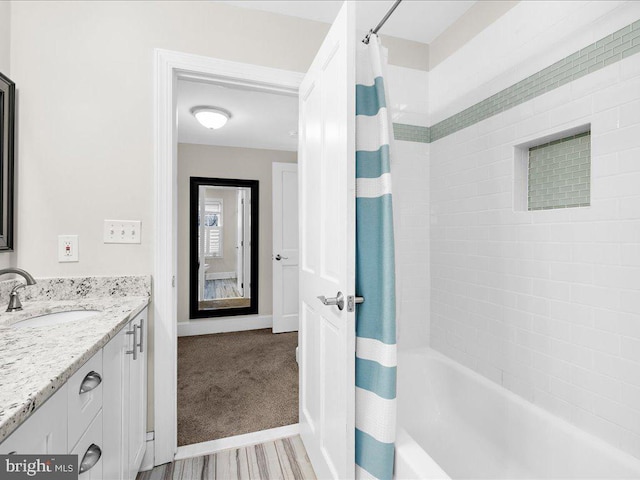
[[[528,210],[588,207],[591,132],[529,148]]]

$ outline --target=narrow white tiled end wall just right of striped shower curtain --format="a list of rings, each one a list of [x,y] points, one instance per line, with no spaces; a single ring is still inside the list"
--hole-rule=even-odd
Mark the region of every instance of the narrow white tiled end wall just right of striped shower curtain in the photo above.
[[[427,72],[388,65],[398,348],[429,345]],[[415,123],[414,123],[415,122]]]

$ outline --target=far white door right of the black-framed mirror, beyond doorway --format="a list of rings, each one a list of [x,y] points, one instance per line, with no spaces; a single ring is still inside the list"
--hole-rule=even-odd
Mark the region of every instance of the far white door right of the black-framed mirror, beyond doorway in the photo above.
[[[298,165],[273,164],[273,333],[298,331]]]

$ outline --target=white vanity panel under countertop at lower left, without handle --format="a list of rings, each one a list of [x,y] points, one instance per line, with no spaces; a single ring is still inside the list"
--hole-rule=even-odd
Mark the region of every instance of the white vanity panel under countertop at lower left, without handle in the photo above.
[[[67,385],[63,385],[20,427],[0,443],[0,453],[67,452]]]

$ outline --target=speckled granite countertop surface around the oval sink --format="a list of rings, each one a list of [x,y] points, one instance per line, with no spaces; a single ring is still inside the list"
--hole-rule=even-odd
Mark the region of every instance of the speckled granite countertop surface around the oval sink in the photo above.
[[[105,295],[31,300],[20,312],[0,313],[0,442],[148,304],[148,295]],[[26,318],[69,310],[99,312],[58,325],[12,327]]]

